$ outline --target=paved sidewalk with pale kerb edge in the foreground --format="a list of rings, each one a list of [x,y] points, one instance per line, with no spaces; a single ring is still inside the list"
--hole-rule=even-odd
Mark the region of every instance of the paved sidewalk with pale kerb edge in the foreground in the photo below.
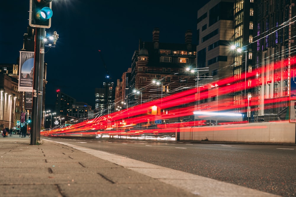
[[[0,196],[274,196],[120,155],[0,138]]]

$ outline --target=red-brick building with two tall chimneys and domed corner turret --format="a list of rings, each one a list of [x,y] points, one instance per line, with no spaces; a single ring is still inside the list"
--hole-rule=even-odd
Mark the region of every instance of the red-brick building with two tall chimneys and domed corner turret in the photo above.
[[[131,83],[126,92],[129,106],[181,92],[195,85],[194,74],[186,71],[186,68],[195,68],[196,65],[196,45],[192,44],[191,30],[185,33],[185,43],[179,44],[160,42],[160,30],[155,28],[152,42],[140,40],[138,51],[132,58]]]

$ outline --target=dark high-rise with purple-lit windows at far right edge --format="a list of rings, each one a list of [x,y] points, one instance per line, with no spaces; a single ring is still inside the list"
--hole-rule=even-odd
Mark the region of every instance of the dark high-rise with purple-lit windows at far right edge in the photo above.
[[[255,3],[252,40],[255,122],[285,120],[289,113],[290,70],[296,69],[295,0],[257,0]]]

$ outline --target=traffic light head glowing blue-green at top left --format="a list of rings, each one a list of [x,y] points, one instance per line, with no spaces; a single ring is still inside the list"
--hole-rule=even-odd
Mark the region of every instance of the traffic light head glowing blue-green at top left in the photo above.
[[[52,0],[30,0],[29,25],[49,28],[52,17]]]

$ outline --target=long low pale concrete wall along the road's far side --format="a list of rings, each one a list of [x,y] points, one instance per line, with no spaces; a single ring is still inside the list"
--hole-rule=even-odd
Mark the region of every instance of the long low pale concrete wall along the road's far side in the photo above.
[[[295,124],[266,122],[180,128],[180,140],[295,144]]]

